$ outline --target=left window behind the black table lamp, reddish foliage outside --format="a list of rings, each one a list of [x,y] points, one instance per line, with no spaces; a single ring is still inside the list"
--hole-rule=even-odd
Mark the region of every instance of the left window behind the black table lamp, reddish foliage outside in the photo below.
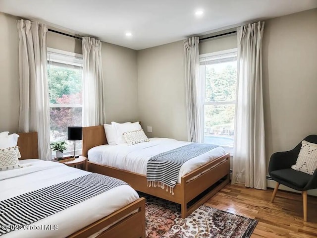
[[[82,124],[82,73],[82,55],[48,48],[51,142],[67,141],[67,126]],[[67,151],[73,150],[68,143]]]

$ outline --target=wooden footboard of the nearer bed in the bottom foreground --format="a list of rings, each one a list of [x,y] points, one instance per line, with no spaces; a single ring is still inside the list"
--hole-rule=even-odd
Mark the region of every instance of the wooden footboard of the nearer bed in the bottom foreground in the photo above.
[[[135,210],[138,211],[130,214]],[[123,217],[125,218],[122,219]],[[145,198],[140,198],[130,203],[67,238],[87,238],[120,219],[122,220],[102,232],[97,238],[145,238]]]

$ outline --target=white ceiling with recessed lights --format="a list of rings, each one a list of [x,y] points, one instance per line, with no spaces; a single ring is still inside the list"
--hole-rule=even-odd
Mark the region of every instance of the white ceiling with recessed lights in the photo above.
[[[316,7],[317,0],[0,0],[1,12],[135,50]]]

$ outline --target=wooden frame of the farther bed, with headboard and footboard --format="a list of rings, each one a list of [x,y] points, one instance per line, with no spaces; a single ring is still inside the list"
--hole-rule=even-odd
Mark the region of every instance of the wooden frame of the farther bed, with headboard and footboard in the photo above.
[[[89,149],[105,144],[103,125],[83,127],[83,156],[88,157]],[[181,183],[174,187],[174,195],[163,189],[148,187],[145,175],[90,162],[89,158],[88,171],[121,179],[137,191],[178,203],[181,205],[182,218],[186,218],[229,183],[229,158],[229,154],[225,154],[181,177]]]

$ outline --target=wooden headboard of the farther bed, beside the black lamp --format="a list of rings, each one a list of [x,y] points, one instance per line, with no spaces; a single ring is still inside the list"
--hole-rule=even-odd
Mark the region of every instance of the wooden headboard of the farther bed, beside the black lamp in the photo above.
[[[141,125],[141,121],[139,121]],[[88,158],[88,150],[95,146],[106,145],[106,133],[103,125],[83,127],[83,156]]]

